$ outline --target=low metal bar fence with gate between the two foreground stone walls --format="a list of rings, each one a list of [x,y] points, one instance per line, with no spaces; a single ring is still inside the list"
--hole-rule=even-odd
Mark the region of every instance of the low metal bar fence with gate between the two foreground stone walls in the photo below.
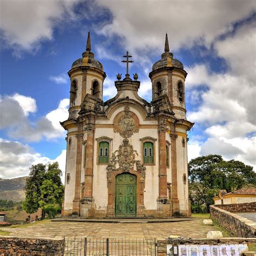
[[[96,239],[66,237],[64,255],[157,255],[156,239]]]

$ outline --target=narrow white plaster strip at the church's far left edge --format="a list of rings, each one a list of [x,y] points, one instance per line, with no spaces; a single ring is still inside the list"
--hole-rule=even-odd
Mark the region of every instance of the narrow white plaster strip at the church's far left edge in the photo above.
[[[73,199],[75,197],[75,181],[76,181],[76,153],[77,153],[77,138],[76,136],[68,136],[72,139],[71,146],[68,147],[66,156],[66,174],[70,173],[69,184],[65,184],[64,209],[72,210]]]

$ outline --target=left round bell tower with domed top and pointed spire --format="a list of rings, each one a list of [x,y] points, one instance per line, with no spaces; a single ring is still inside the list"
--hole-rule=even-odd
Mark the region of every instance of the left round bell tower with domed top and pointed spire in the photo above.
[[[103,82],[106,74],[103,65],[94,58],[91,52],[91,37],[88,32],[86,51],[82,53],[82,58],[73,62],[71,70],[68,72],[70,77],[70,109],[71,116],[77,117],[80,105],[84,97],[89,94],[98,100],[103,97]]]

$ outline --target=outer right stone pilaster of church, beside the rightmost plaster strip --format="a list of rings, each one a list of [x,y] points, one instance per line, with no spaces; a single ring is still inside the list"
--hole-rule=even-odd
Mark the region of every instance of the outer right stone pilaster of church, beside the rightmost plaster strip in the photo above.
[[[177,149],[176,139],[177,134],[175,133],[174,124],[171,124],[171,167],[172,167],[172,215],[179,215],[179,199],[178,199],[178,188],[177,188]]]

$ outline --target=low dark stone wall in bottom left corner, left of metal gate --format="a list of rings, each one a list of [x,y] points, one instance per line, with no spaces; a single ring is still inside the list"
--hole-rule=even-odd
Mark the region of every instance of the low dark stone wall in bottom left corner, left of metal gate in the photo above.
[[[0,237],[0,255],[63,255],[63,238]]]

